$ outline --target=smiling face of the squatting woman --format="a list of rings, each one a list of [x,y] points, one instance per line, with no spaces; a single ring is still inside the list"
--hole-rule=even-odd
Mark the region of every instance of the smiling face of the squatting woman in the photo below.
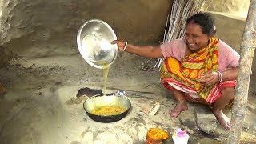
[[[210,36],[203,34],[198,24],[190,22],[186,25],[185,42],[190,50],[201,50],[208,45],[209,40]]]

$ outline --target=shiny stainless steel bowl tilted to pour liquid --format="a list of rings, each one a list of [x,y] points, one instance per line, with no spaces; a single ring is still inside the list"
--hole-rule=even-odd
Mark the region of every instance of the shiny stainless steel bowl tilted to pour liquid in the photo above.
[[[115,39],[114,30],[106,22],[92,19],[78,30],[78,50],[90,66],[104,69],[117,58],[118,46],[111,44]]]

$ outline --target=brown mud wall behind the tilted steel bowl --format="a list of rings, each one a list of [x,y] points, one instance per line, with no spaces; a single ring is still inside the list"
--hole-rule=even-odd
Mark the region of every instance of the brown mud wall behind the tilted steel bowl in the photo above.
[[[158,44],[163,37],[170,2],[0,0],[0,46],[21,57],[43,57],[52,54],[52,51],[55,55],[76,54],[78,28],[92,18],[107,22],[118,38],[128,42]],[[62,43],[62,37],[68,37],[65,42],[66,39],[70,41],[61,50],[50,46],[53,39]]]

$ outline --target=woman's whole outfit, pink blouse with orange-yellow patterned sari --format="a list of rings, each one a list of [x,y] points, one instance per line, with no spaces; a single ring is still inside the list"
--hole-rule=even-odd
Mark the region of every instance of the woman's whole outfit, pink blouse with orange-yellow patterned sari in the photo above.
[[[237,67],[239,54],[218,38],[210,38],[209,45],[185,57],[186,44],[182,39],[161,45],[165,60],[160,69],[162,85],[185,93],[186,99],[211,104],[221,96],[226,86],[236,86],[235,81],[225,81],[205,86],[198,82],[206,71],[222,71]]]

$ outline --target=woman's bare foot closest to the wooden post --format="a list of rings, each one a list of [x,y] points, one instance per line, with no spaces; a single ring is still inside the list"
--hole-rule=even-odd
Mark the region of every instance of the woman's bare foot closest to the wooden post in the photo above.
[[[215,117],[217,118],[218,122],[224,127],[226,130],[230,130],[230,118],[228,118],[222,110],[215,110],[213,111]]]

